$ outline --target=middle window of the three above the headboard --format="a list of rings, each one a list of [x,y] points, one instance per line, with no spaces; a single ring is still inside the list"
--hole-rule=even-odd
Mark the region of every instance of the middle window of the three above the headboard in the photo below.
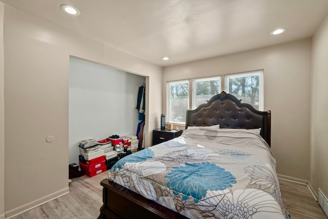
[[[221,92],[221,77],[193,79],[193,109]]]

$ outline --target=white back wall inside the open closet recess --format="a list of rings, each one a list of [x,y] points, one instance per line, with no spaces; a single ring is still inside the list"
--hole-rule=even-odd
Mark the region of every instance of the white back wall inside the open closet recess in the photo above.
[[[78,164],[78,143],[113,134],[136,135],[137,90],[144,76],[71,57],[69,73],[69,164]]]

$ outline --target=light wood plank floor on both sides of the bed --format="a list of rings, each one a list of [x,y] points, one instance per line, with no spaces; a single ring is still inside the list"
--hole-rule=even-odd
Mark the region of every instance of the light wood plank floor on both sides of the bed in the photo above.
[[[13,218],[97,218],[103,204],[103,190],[99,183],[107,176],[106,171],[91,178],[86,175],[73,178],[69,194]],[[307,186],[283,180],[279,184],[284,207],[292,219],[326,218]]]

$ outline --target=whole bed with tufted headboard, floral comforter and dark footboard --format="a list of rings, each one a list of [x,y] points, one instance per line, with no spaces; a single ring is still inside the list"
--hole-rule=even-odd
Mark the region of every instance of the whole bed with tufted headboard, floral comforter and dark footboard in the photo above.
[[[112,167],[98,218],[290,218],[270,141],[271,112],[222,91],[180,137]]]

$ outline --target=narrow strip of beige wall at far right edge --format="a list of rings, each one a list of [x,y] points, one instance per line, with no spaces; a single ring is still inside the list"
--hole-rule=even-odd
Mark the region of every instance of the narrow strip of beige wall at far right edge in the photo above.
[[[328,16],[312,38],[311,184],[328,197]]]

